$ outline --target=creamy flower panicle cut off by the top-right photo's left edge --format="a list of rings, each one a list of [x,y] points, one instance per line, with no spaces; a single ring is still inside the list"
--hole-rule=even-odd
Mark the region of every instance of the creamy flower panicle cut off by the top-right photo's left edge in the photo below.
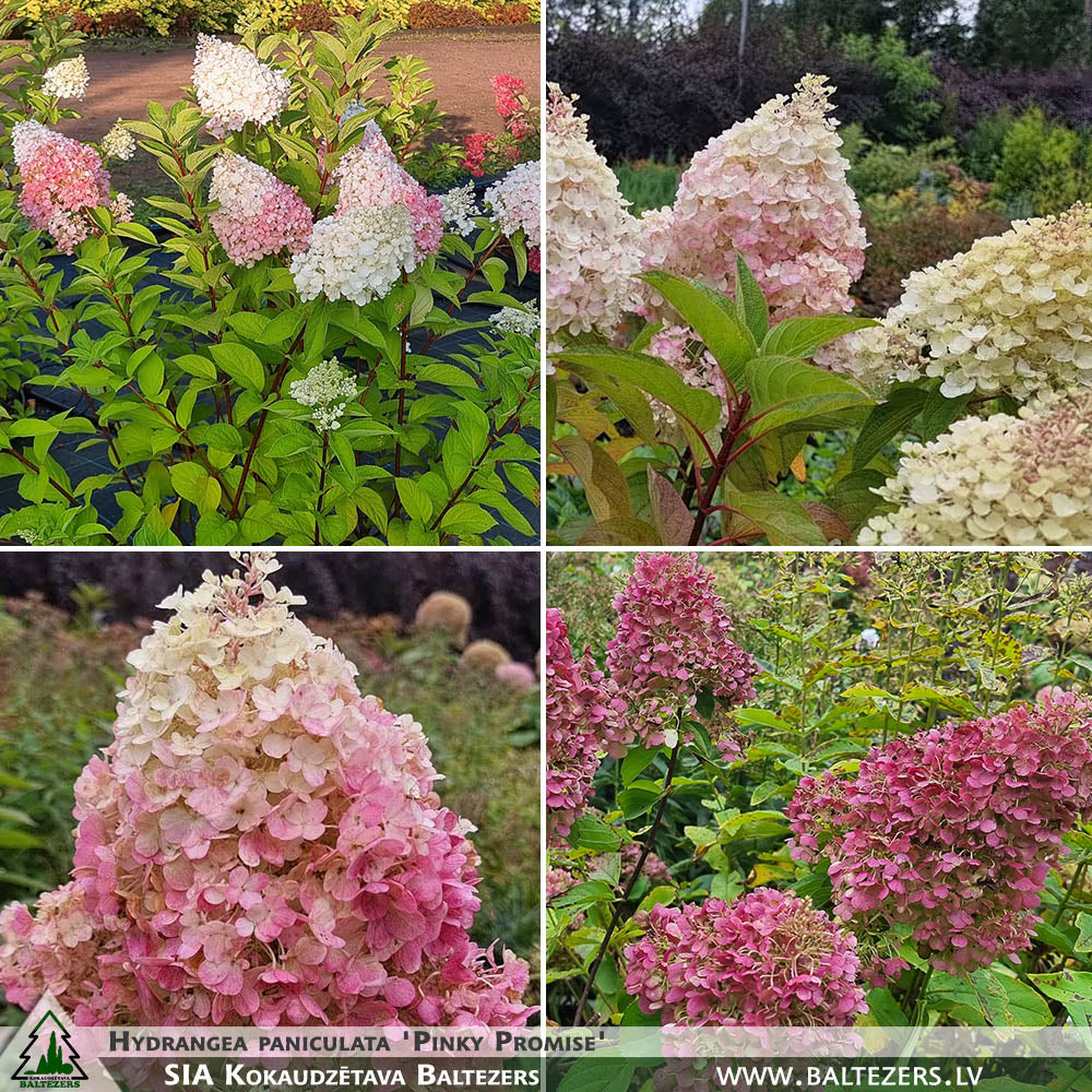
[[[575,99],[549,85],[546,108],[547,336],[609,336],[637,302],[639,228],[618,179],[587,139]]]

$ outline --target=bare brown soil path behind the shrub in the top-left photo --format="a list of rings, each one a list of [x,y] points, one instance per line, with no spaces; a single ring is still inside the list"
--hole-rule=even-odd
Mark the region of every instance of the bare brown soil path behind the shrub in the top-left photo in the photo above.
[[[489,27],[485,29],[404,31],[387,38],[381,47],[384,59],[406,56],[428,63],[436,84],[436,98],[447,114],[444,135],[461,140],[472,132],[499,132],[503,128],[494,106],[489,80],[508,72],[526,81],[537,97],[539,50],[537,26]],[[169,106],[190,84],[193,44],[164,46],[98,45],[84,49],[91,85],[80,103],[83,117],[59,127],[79,140],[98,140],[120,118],[142,118],[150,102]],[[382,72],[372,93],[385,97]],[[145,153],[124,165],[114,165],[117,182],[155,182],[158,168]]]

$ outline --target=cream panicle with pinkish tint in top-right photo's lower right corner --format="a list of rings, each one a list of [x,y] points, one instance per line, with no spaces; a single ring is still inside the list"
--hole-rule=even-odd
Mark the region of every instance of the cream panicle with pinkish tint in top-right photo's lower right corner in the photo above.
[[[1092,542],[1092,393],[957,422],[903,449],[865,546],[1080,546]]]

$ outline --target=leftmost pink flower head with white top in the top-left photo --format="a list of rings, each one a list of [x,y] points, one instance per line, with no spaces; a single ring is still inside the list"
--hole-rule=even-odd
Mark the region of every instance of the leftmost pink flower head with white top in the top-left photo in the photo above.
[[[70,254],[93,230],[86,210],[110,203],[110,176],[90,144],[21,121],[12,130],[15,165],[23,179],[19,206],[31,226],[48,232]]]

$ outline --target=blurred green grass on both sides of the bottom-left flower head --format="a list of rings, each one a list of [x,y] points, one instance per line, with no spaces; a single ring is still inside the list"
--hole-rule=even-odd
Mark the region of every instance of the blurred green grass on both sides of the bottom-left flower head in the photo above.
[[[69,878],[73,785],[110,738],[123,661],[141,630],[78,631],[44,604],[0,609],[0,904],[33,902]],[[361,692],[424,726],[443,775],[444,806],[478,828],[482,883],[473,938],[536,964],[538,945],[538,700],[468,670],[434,639],[366,619],[314,622],[359,668]],[[15,848],[5,832],[40,843]],[[535,983],[537,986],[537,983]],[[0,1002],[0,1024],[23,1013]]]

